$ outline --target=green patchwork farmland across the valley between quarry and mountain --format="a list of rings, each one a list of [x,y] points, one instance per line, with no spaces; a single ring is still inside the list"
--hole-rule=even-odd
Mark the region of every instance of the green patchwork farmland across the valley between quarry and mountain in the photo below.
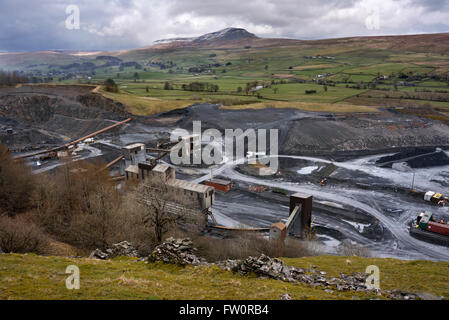
[[[432,35],[428,35],[426,41],[431,43],[431,39]],[[17,54],[2,59],[9,61],[8,69],[17,67],[25,72],[38,72],[47,82],[102,84],[112,78],[121,91],[117,99],[139,115],[193,102],[247,107],[268,102],[295,102],[297,107],[302,103],[325,103],[335,104],[337,109],[338,104],[385,107],[396,99],[395,105],[407,107],[449,106],[446,97],[401,98],[401,93],[416,90],[430,90],[435,94],[449,91],[447,50],[442,43],[426,47],[422,41],[401,36],[310,42],[258,39],[249,43],[250,46],[241,43],[216,47],[168,46],[108,53],[123,62],[138,63],[138,68],[105,65],[105,60],[96,59],[95,54]],[[71,72],[64,71],[72,70],[67,69],[70,63],[93,63],[97,68],[95,72],[81,72],[75,78],[58,75]],[[166,82],[172,90],[164,89]],[[183,85],[192,82],[216,85],[219,89],[216,92],[183,90]],[[264,88],[246,92],[248,83]],[[373,93],[376,88],[382,89],[389,98]],[[306,94],[306,90],[315,93]],[[153,99],[151,103],[150,99]],[[329,105],[325,109],[332,112]]]

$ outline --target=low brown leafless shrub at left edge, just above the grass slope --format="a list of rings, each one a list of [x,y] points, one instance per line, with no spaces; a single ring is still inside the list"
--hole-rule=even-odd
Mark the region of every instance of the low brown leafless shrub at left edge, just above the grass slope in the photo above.
[[[33,223],[20,217],[0,217],[0,248],[7,253],[43,253],[48,239]]]

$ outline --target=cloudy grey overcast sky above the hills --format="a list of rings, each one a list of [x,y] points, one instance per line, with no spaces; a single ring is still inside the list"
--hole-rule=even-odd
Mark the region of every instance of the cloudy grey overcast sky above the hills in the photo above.
[[[137,48],[227,27],[295,39],[449,32],[449,0],[0,0],[0,51]]]

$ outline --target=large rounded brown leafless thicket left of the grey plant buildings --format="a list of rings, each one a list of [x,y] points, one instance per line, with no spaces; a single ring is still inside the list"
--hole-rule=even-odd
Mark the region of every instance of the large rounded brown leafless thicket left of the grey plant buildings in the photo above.
[[[120,197],[100,164],[62,167],[41,179],[34,194],[36,221],[60,241],[79,248],[106,248],[120,228]]]

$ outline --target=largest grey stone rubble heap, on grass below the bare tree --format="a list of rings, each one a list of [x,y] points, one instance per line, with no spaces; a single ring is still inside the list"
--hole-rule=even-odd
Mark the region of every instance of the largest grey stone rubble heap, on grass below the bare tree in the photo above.
[[[148,260],[177,265],[209,265],[205,259],[197,257],[195,252],[191,239],[168,238],[153,250]]]

